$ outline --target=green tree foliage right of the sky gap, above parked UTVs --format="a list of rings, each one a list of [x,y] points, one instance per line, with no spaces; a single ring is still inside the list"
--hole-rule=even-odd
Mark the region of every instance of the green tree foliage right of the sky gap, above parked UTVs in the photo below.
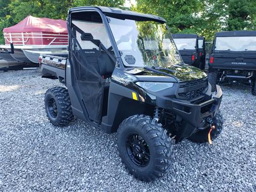
[[[171,33],[195,33],[211,41],[222,30],[255,30],[255,0],[138,0],[133,10],[163,17]]]

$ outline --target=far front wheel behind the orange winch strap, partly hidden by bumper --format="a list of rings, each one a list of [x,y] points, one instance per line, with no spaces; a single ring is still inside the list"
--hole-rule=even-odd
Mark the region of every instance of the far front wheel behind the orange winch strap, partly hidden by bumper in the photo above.
[[[213,124],[215,125],[215,129],[211,131],[211,140],[216,139],[220,135],[223,129],[223,118],[220,111],[218,111],[215,117],[213,118]],[[197,133],[191,135],[188,138],[188,140],[197,142],[197,143],[208,142],[209,131],[210,131],[210,127],[203,131],[198,131]]]

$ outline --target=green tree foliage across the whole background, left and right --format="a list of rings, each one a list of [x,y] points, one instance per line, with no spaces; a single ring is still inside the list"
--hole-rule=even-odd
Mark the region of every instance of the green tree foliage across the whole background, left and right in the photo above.
[[[26,18],[66,19],[70,7],[101,5],[122,7],[125,0],[0,0],[0,36]],[[255,0],[137,0],[132,10],[156,14],[167,21],[171,33],[195,33],[212,40],[221,30],[256,30]],[[0,44],[4,39],[0,38]]]

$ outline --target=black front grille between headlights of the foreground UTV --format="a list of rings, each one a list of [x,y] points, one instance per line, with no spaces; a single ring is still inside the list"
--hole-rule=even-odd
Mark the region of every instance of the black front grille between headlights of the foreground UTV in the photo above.
[[[178,93],[179,97],[186,99],[193,99],[203,95],[205,88],[207,87],[207,78],[190,81],[180,84],[182,92]]]

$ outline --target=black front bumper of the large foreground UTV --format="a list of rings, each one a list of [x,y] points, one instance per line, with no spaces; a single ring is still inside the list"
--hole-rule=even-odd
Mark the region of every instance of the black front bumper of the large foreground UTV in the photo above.
[[[180,121],[178,137],[188,138],[198,130],[204,129],[207,118],[213,118],[220,107],[222,91],[217,85],[217,92],[212,94],[211,89],[204,95],[201,103],[191,103],[181,99],[157,98],[157,106],[172,111],[176,115],[177,121]]]

